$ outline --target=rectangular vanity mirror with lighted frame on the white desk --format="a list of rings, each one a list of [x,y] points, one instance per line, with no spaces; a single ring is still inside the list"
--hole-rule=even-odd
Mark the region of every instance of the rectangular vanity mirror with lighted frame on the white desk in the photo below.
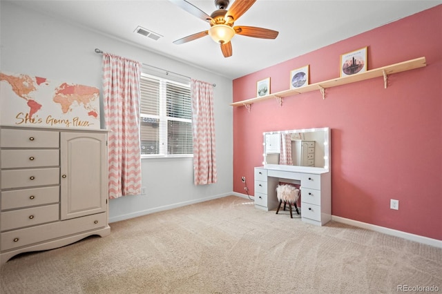
[[[300,167],[329,170],[329,128],[276,130],[263,135],[264,166],[287,170]]]

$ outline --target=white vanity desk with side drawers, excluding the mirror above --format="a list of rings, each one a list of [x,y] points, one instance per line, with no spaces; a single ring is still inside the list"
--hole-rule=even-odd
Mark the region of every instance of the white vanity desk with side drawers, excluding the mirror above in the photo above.
[[[323,226],[332,219],[332,187],[329,171],[295,168],[255,168],[255,207],[276,210],[279,182],[300,184],[302,222]]]

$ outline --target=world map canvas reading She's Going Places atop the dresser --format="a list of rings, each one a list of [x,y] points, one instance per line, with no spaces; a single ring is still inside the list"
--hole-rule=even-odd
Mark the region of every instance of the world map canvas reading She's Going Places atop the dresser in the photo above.
[[[99,129],[99,89],[0,72],[0,124]]]

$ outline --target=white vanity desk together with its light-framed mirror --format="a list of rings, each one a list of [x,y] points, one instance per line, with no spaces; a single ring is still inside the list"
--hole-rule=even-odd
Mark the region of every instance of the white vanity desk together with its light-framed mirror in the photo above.
[[[293,163],[269,164],[269,158],[273,160],[278,148],[273,140],[269,147],[269,137],[275,134],[291,134],[292,146],[295,149],[298,139],[311,139],[318,148],[315,149],[314,166],[296,166]],[[267,140],[266,140],[267,137]],[[290,136],[289,136],[290,137]],[[282,135],[282,142],[287,135]],[[329,169],[330,160],[330,140],[329,128],[291,130],[264,133],[264,166],[256,167],[255,175],[255,207],[263,210],[276,210],[279,202],[276,197],[276,187],[280,183],[300,185],[300,211],[302,222],[323,226],[332,219],[332,173]],[[290,144],[289,144],[290,145]],[[287,144],[286,144],[287,146]],[[295,150],[283,151],[288,154]],[[280,157],[290,157],[290,155],[278,154]],[[289,160],[289,162],[291,162]]]

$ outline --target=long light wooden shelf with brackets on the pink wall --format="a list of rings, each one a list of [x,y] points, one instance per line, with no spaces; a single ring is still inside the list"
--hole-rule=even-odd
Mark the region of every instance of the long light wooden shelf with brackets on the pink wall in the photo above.
[[[366,72],[361,72],[360,74],[351,75],[348,77],[338,77],[336,79],[329,79],[328,81],[320,81],[315,84],[309,84],[302,88],[289,89],[276,93],[271,93],[269,95],[265,95],[262,97],[256,97],[256,98],[234,102],[230,105],[245,106],[250,111],[250,105],[259,101],[278,99],[280,101],[280,104],[282,104],[282,98],[290,97],[297,94],[302,94],[305,92],[311,92],[314,90],[319,90],[323,95],[323,99],[325,99],[325,89],[327,88],[356,83],[356,81],[364,81],[366,79],[373,79],[375,77],[384,77],[384,88],[387,88],[388,75],[392,75],[397,72],[404,72],[406,70],[413,70],[414,68],[423,68],[426,65],[427,64],[425,61],[425,57],[419,57],[416,59],[395,63],[390,66],[383,66],[382,68],[374,68],[373,70],[367,70]]]

